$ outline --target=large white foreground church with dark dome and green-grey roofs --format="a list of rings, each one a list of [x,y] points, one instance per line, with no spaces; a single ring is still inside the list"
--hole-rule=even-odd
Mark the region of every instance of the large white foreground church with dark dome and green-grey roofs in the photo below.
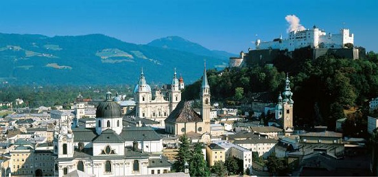
[[[171,165],[161,157],[162,137],[150,127],[123,127],[122,117],[121,106],[108,92],[97,106],[95,128],[71,128],[72,119],[61,120],[53,141],[55,176],[169,172]]]

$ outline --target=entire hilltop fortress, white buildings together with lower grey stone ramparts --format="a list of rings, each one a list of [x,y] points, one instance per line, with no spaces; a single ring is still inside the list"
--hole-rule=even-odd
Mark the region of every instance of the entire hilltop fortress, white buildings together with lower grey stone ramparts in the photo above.
[[[324,32],[314,25],[312,29],[293,30],[288,38],[274,38],[272,41],[255,41],[255,49],[248,49],[248,53],[241,51],[239,57],[231,57],[229,67],[241,67],[252,62],[271,63],[279,55],[293,58],[294,52],[303,50],[305,56],[316,59],[325,54],[340,58],[358,59],[365,56],[363,47],[354,46],[354,35],[349,29],[340,29],[340,34]],[[303,56],[303,55],[302,55]]]

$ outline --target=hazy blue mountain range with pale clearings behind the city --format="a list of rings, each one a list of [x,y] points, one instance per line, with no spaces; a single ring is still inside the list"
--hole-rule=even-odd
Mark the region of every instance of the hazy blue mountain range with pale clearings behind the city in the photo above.
[[[186,84],[204,68],[222,69],[225,51],[211,51],[178,36],[147,45],[102,34],[54,36],[0,34],[0,81],[10,84],[136,84],[143,67],[149,84],[172,82],[174,68]]]

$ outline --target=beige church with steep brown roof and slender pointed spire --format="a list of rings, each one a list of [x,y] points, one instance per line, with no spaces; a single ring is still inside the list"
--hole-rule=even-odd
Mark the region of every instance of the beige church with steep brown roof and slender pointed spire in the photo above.
[[[191,108],[191,102],[181,101],[169,117],[165,119],[165,132],[176,135],[189,132],[197,134],[210,133],[210,86],[207,82],[206,67],[202,76],[200,95],[202,102],[201,115],[198,115]]]

